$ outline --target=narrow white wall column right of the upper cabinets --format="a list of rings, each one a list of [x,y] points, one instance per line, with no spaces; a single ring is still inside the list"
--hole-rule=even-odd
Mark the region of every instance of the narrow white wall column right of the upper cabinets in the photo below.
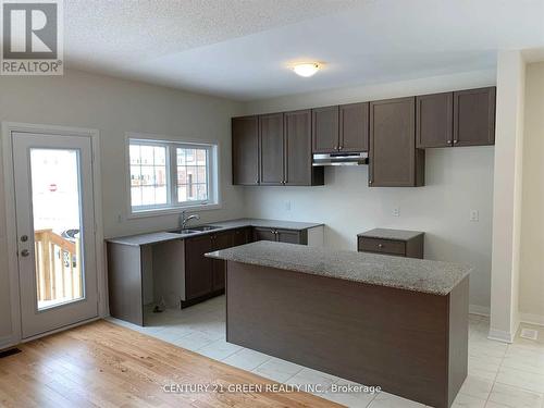
[[[508,343],[519,324],[524,75],[520,51],[499,52],[490,337]]]

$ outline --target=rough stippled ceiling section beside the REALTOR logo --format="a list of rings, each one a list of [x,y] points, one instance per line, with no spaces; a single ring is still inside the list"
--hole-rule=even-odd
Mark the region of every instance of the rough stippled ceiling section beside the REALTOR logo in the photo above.
[[[357,0],[65,0],[69,61],[146,61],[360,4]],[[113,61],[110,61],[113,62]]]

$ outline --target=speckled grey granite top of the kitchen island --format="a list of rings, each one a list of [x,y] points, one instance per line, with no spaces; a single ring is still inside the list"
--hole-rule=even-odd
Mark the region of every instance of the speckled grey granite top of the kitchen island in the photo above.
[[[207,256],[433,295],[447,295],[472,270],[448,262],[265,240]]]

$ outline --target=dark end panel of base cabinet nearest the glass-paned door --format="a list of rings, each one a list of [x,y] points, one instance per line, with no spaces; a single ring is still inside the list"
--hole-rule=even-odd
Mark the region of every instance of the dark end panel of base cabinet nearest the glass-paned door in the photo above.
[[[108,292],[113,318],[144,325],[139,246],[108,243]]]

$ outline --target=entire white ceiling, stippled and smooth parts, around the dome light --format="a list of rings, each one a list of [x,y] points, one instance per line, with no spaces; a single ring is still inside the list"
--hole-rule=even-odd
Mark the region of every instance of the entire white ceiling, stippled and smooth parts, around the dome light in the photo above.
[[[496,66],[544,0],[65,0],[67,67],[237,100]],[[288,70],[316,60],[311,78]]]

